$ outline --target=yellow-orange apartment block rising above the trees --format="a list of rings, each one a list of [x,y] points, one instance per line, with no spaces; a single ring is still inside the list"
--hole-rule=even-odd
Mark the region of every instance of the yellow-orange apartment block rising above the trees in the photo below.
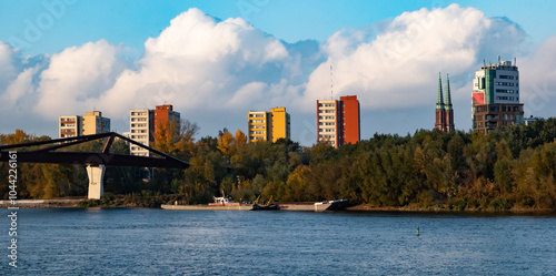
[[[290,116],[286,108],[274,108],[270,112],[249,111],[247,116],[249,142],[291,139]]]

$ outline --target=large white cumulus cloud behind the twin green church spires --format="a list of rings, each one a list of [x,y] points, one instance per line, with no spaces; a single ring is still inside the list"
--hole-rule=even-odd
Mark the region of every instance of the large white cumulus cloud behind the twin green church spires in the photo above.
[[[404,12],[376,38],[366,38],[364,31],[341,30],[328,39],[322,45],[328,60],[310,75],[306,104],[329,95],[332,65],[335,93],[357,94],[361,109],[427,105],[436,100],[439,71],[450,73],[453,80],[467,78],[478,69],[479,57],[494,51],[510,54],[526,34],[508,20],[451,4]]]

